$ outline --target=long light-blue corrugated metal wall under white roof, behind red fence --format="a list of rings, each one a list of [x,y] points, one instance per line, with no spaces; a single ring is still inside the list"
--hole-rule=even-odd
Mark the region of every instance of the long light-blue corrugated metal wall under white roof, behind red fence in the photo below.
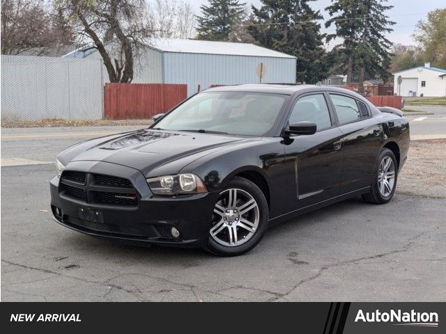
[[[234,85],[259,82],[256,66],[266,63],[263,82],[295,83],[295,58],[229,56],[217,54],[168,53],[164,56],[164,83],[187,84],[187,95],[197,93],[198,85]]]

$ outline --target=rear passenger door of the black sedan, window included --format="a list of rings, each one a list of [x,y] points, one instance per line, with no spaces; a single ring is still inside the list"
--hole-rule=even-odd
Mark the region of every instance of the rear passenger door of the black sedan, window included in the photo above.
[[[383,143],[383,127],[371,117],[364,102],[349,95],[330,93],[341,138],[344,166],[341,194],[356,191],[371,184],[376,157]]]

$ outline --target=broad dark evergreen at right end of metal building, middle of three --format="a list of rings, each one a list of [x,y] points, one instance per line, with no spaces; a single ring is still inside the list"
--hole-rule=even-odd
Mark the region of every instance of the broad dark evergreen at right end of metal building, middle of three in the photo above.
[[[308,2],[314,0],[261,0],[252,6],[249,33],[263,47],[297,57],[297,81],[316,84],[328,77],[328,63],[321,34],[322,19]]]

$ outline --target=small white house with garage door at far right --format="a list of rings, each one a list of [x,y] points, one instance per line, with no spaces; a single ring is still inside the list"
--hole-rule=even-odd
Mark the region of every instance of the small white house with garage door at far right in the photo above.
[[[446,96],[446,70],[431,67],[413,67],[392,73],[394,75],[393,92],[400,96]]]

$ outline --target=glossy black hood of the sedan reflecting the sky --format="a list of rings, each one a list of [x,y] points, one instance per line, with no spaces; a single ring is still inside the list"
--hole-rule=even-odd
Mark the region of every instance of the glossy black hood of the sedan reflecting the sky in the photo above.
[[[92,141],[94,145],[79,152],[70,160],[120,164],[141,170],[146,176],[149,172],[170,164],[170,168],[162,170],[162,173],[170,174],[178,173],[185,165],[208,152],[240,141],[249,141],[249,139],[217,134],[144,129],[121,136],[95,139]],[[153,173],[151,175],[153,176]]]

